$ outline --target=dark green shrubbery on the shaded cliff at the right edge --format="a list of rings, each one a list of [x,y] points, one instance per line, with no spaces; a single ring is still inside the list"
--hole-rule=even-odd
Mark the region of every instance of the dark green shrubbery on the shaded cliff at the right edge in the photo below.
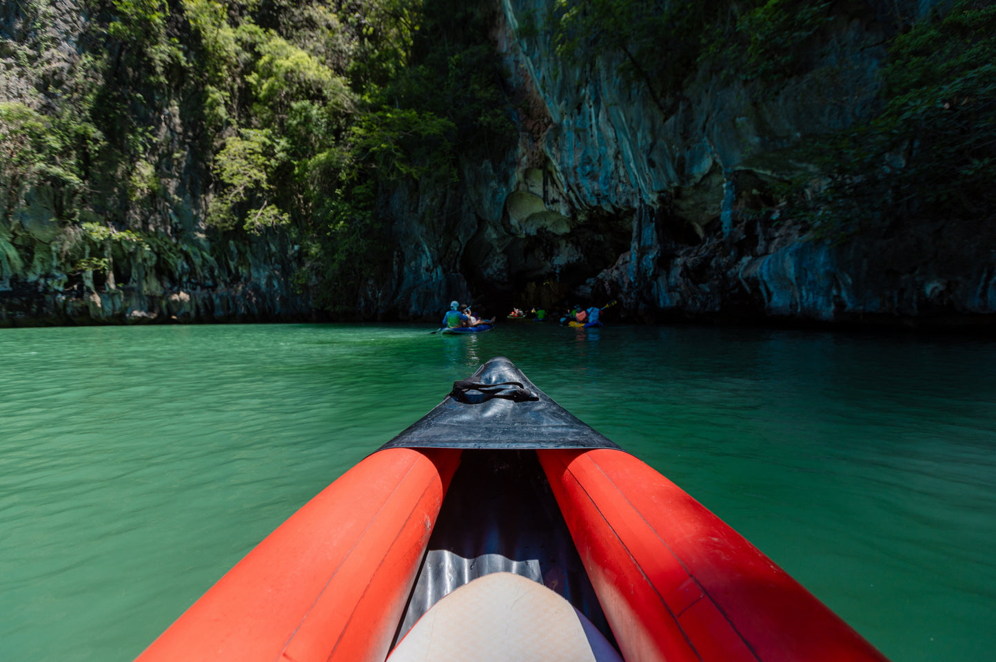
[[[829,181],[797,201],[823,236],[915,217],[985,221],[996,204],[996,6],[959,0],[889,45],[883,109],[813,147]]]

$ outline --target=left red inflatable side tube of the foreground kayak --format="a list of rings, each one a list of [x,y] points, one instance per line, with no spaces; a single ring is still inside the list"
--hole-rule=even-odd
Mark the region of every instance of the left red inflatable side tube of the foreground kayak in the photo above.
[[[139,662],[382,662],[459,450],[374,453],[184,612]]]

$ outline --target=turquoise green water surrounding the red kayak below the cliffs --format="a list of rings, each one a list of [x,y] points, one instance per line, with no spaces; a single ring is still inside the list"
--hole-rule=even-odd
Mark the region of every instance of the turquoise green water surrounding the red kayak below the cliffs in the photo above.
[[[895,662],[996,660],[996,342],[430,329],[0,330],[0,657],[130,660],[505,355]]]

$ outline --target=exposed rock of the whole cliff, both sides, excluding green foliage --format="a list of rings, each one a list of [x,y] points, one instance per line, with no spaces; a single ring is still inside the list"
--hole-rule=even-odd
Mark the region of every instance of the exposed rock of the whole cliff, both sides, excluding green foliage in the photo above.
[[[545,31],[525,29],[549,0],[484,1],[497,8],[490,39],[518,142],[464,158],[444,191],[381,191],[393,274],[368,284],[359,317],[434,320],[451,299],[476,298],[498,314],[618,299],[647,320],[993,319],[992,228],[937,219],[835,243],[742,213],[812,171],[793,151],[801,140],[874,109],[895,12],[922,18],[945,0],[870,0],[877,20],[833,24],[804,73],[767,86],[693,77],[667,105],[622,78],[621,56],[572,64]],[[22,112],[68,103],[87,20],[78,0],[7,3],[0,101]],[[204,137],[173,92],[139,109],[158,146],[127,187],[107,183],[104,202],[65,177],[0,168],[0,325],[315,318],[293,286],[305,258],[289,233],[233,241],[205,229]],[[131,235],[81,230],[124,198]],[[67,208],[83,210],[74,223]]]

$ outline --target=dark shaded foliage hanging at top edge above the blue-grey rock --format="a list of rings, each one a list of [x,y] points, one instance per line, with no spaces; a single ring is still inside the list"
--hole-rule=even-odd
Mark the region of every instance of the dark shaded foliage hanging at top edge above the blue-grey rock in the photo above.
[[[642,84],[662,109],[704,67],[711,76],[768,83],[798,73],[807,40],[859,0],[555,0],[545,16],[530,16],[526,34],[548,30],[557,53],[594,63],[622,56],[620,73]]]

